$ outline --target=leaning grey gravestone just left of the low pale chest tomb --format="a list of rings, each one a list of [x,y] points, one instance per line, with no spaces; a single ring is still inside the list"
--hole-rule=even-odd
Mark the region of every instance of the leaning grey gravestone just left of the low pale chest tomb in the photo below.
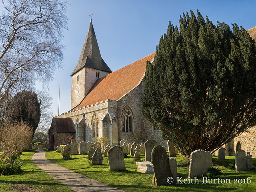
[[[108,150],[108,164],[110,171],[126,170],[124,154],[120,146],[116,145]]]

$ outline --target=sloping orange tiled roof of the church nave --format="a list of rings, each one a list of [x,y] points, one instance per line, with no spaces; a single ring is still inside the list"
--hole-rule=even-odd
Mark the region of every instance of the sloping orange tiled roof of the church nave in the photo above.
[[[82,102],[73,109],[83,108],[84,106],[100,103],[106,99],[118,100],[132,88],[138,85],[146,71],[146,62],[154,58],[152,53],[130,65],[116,70],[98,79]]]

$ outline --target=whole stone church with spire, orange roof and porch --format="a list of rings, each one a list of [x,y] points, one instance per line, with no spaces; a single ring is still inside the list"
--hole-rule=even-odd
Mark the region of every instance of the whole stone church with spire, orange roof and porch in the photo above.
[[[141,136],[141,141],[153,139],[167,146],[161,131],[150,126],[141,113],[146,62],[154,62],[154,55],[112,72],[101,58],[91,20],[78,64],[70,74],[71,110],[53,117],[49,130],[50,149],[68,144],[64,138],[68,135],[75,136],[78,142],[108,137],[110,143],[119,143],[122,139],[132,142],[131,136],[135,134]],[[68,132],[67,126],[56,126],[56,122],[61,124],[62,121],[72,121],[74,131],[70,131],[70,124]]]

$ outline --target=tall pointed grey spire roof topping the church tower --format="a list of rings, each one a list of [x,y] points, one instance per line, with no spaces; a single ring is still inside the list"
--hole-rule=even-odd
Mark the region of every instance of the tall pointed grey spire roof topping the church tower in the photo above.
[[[92,20],[84,41],[84,46],[82,48],[78,64],[76,68],[71,73],[70,76],[74,75],[76,72],[81,70],[83,67],[90,67],[94,69],[99,69],[107,72],[112,72],[104,60],[101,58],[100,49],[92,26]]]

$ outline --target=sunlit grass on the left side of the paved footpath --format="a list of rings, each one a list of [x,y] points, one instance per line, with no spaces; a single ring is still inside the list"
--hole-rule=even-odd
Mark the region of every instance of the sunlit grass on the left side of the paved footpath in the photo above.
[[[54,180],[31,162],[35,152],[22,152],[24,164],[20,173],[0,175],[0,192],[72,192],[73,190]]]

